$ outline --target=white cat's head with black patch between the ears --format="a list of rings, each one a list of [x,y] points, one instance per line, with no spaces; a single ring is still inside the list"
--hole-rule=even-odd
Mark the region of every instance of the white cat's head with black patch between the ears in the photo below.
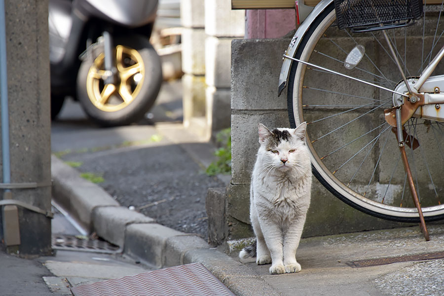
[[[307,166],[310,167],[310,154],[305,145],[306,127],[307,124],[302,122],[294,129],[276,128],[270,131],[259,123],[259,155],[263,164],[281,172],[305,172]]]

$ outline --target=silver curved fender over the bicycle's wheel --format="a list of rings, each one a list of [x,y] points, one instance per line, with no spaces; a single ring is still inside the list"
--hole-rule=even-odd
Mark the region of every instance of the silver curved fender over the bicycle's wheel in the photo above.
[[[300,26],[297,28],[295,35],[292,38],[292,41],[290,42],[290,45],[288,45],[287,50],[284,52],[284,54],[288,56],[295,56],[296,49],[299,46],[299,43],[304,37],[305,33],[307,32],[308,28],[310,28],[313,21],[316,19],[316,17],[324,11],[328,5],[330,5],[333,2],[333,0],[322,0],[314,7],[314,9],[311,11],[311,13],[307,16],[307,18],[300,24]],[[287,86],[288,82],[288,75],[290,72],[290,67],[292,66],[292,60],[283,58],[282,67],[281,67],[281,74],[279,74],[279,84],[278,84],[278,96],[281,95],[284,88]]]

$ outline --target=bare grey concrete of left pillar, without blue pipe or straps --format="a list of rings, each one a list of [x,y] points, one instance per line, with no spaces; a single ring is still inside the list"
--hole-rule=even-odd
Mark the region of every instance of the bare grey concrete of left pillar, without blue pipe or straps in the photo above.
[[[5,1],[12,198],[51,209],[48,1]],[[1,24],[2,25],[2,24]],[[20,255],[50,254],[51,220],[18,208]]]

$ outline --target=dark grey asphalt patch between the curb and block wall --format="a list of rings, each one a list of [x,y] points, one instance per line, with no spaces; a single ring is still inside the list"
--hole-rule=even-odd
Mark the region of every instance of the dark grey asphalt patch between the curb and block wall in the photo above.
[[[147,136],[157,136],[154,128]],[[207,238],[207,190],[224,184],[207,176],[179,145],[161,139],[141,146],[74,152],[62,159],[81,164],[76,168],[80,172],[103,177],[98,185],[122,206],[134,206],[162,225]]]

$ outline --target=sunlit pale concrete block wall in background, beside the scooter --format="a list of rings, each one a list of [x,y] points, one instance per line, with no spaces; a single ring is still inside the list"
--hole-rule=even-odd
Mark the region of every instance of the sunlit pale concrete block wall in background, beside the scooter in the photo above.
[[[230,0],[181,0],[184,125],[210,139],[230,126],[230,42],[245,11]]]

